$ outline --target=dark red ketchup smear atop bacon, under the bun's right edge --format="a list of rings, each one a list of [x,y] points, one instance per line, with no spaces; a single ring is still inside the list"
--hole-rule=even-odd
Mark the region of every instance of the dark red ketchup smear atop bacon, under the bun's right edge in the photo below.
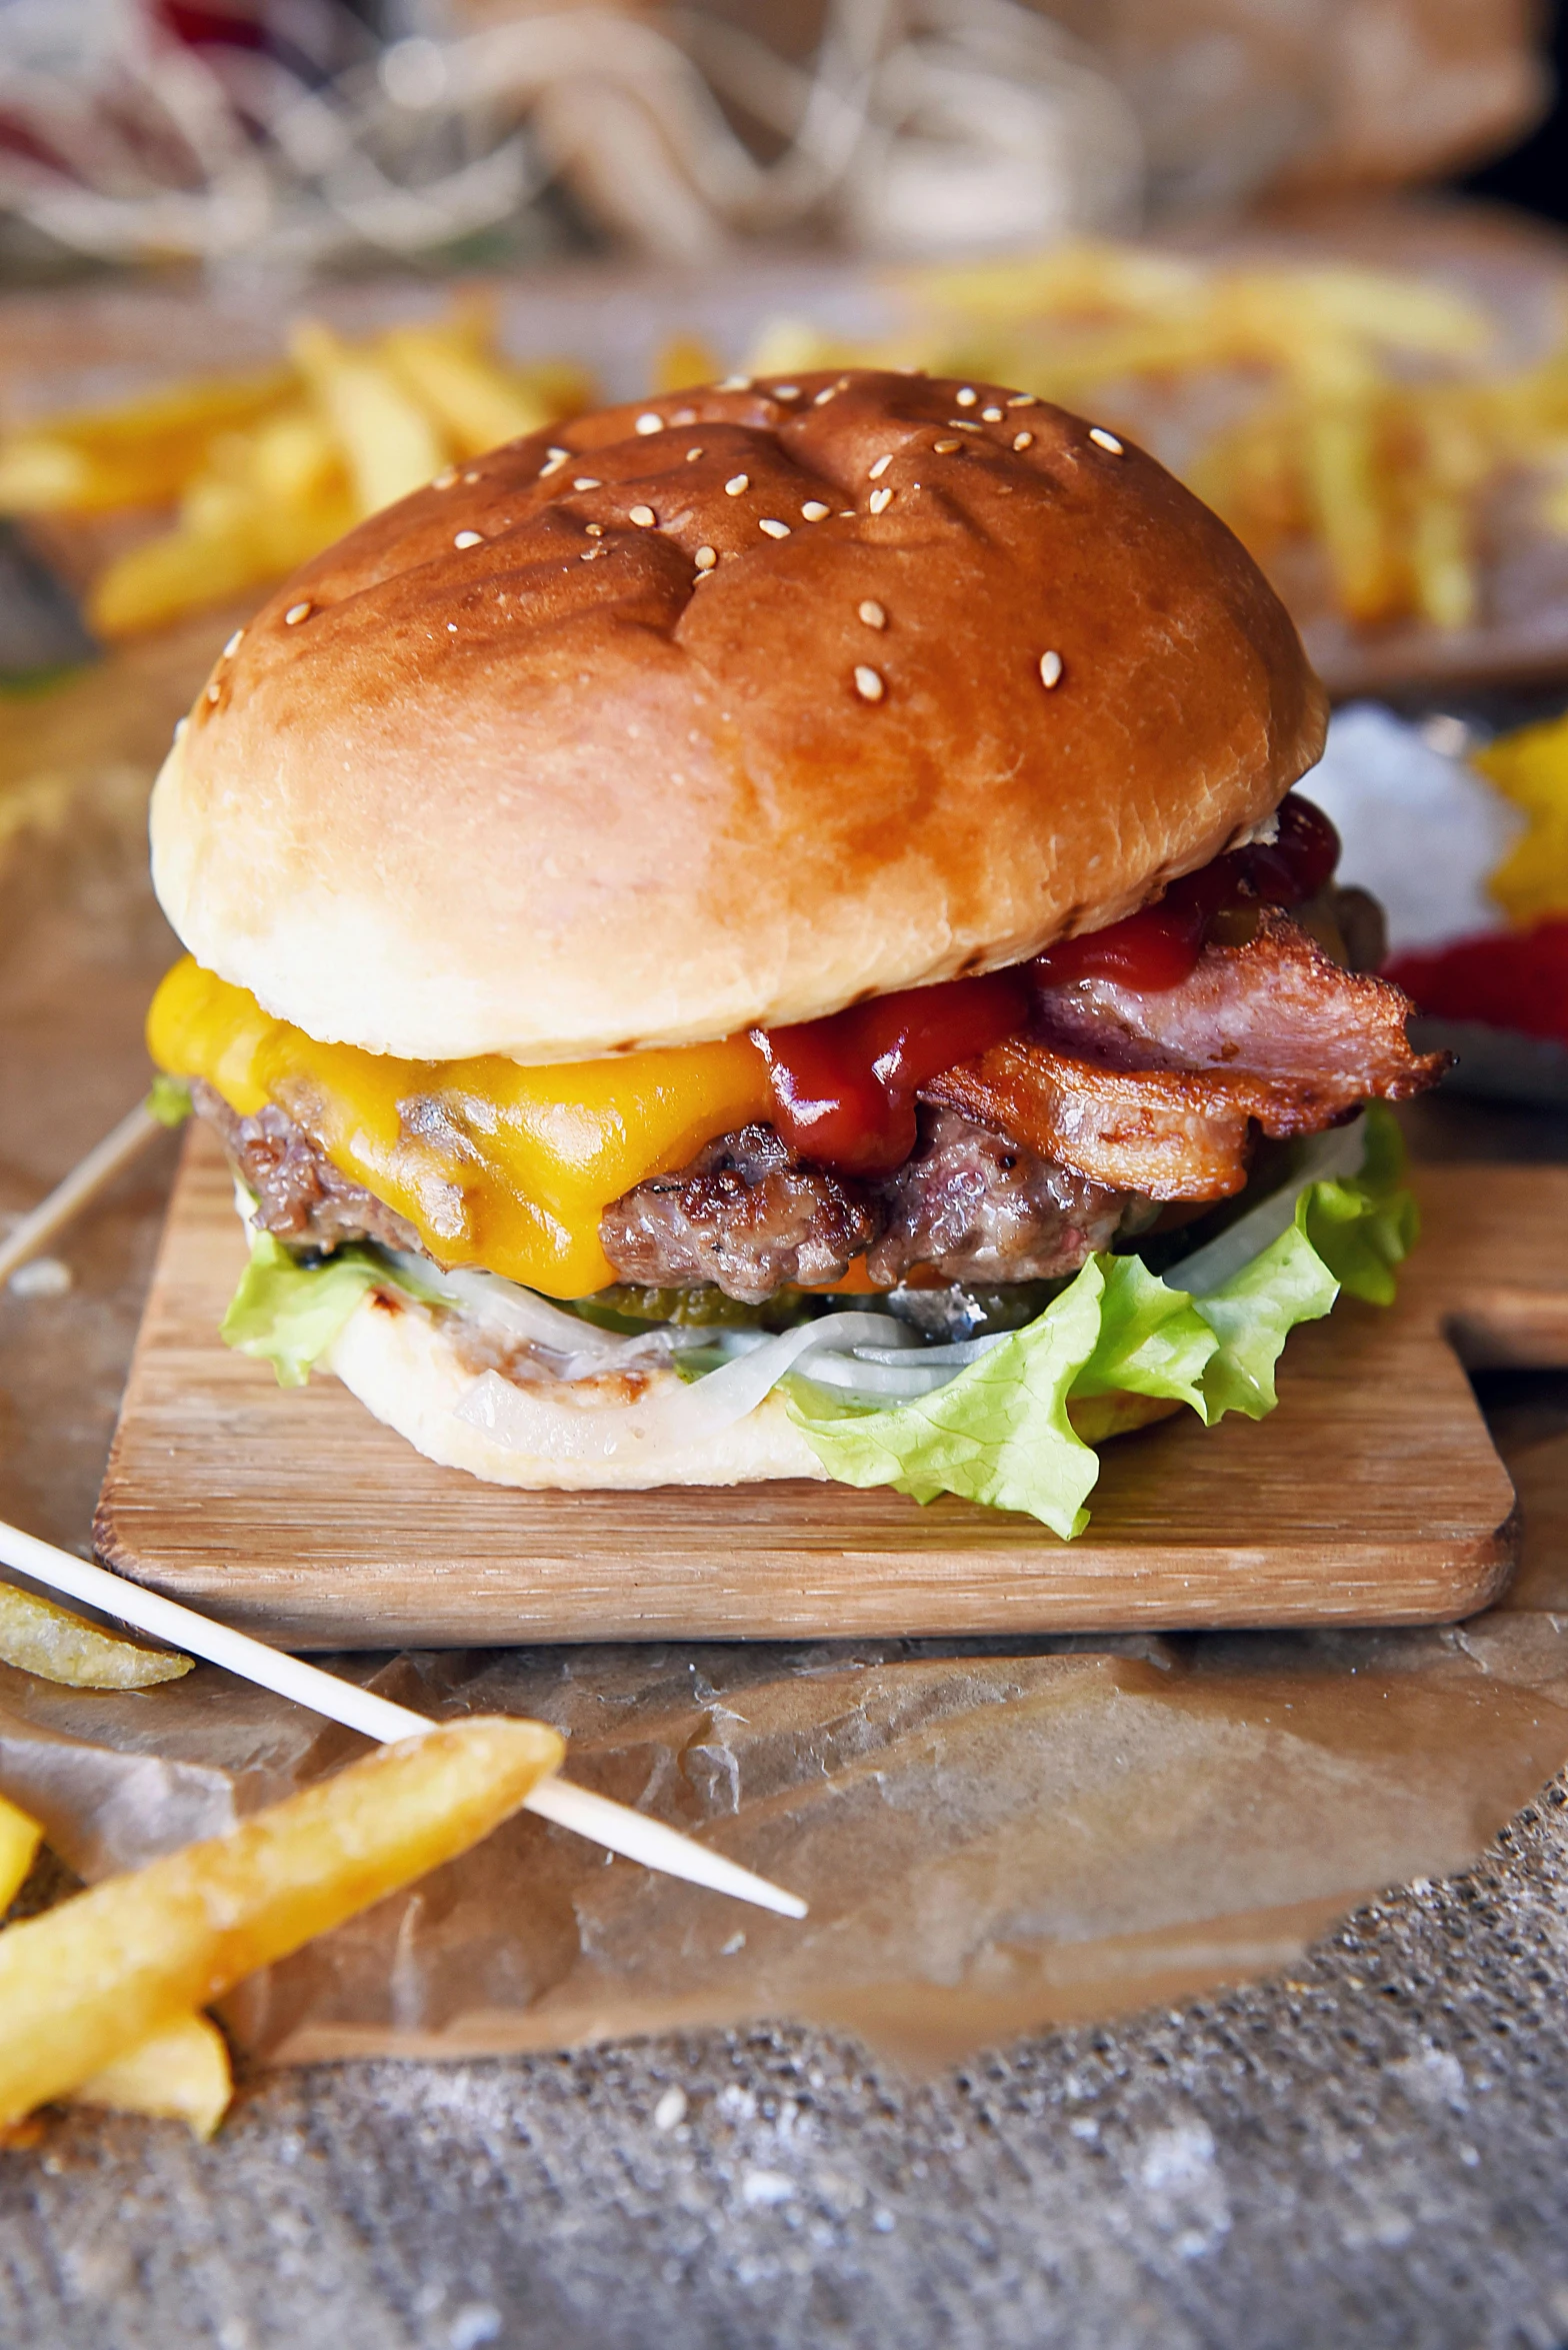
[[[1310,799],[1279,806],[1272,848],[1235,848],[1195,874],[1171,881],[1157,905],[1138,907],[1108,931],[1063,938],[1038,954],[1030,971],[1045,987],[1070,980],[1120,980],[1122,987],[1181,987],[1204,952],[1216,914],[1242,905],[1300,905],[1329,881],[1340,837]]]

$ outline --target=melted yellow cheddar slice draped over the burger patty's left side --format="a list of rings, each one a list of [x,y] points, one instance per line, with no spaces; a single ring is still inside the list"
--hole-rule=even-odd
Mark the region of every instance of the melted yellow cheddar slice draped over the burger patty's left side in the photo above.
[[[772,1107],[744,1036],[549,1069],[495,1053],[392,1060],[317,1043],[190,956],[153,999],[148,1050],[239,1116],[275,1102],[441,1264],[484,1264],[549,1297],[615,1281],[599,1246],[613,1198]]]

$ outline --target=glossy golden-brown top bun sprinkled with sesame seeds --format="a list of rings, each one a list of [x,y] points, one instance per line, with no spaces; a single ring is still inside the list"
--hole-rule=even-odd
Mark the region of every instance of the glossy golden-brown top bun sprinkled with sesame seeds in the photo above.
[[[312,1036],[577,1060],[1115,921],[1322,736],[1279,599],[1138,449],[758,381],[512,442],[298,571],[164,766],[155,879]]]

